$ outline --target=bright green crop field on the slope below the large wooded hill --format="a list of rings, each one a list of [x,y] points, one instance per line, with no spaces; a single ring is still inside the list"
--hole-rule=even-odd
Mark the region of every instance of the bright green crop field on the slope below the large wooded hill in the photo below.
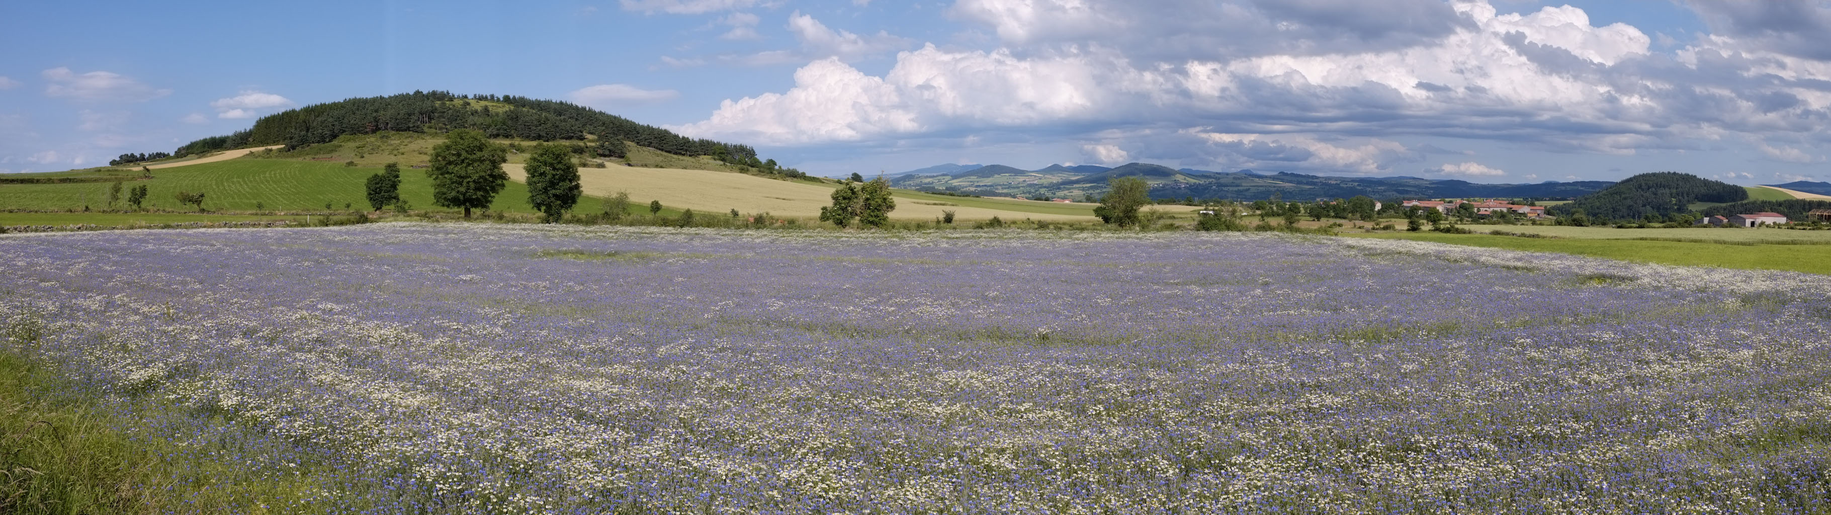
[[[315,163],[289,159],[231,159],[220,163],[200,163],[178,169],[154,170],[152,180],[123,183],[123,189],[146,185],[145,207],[165,211],[189,211],[178,205],[172,194],[178,191],[201,191],[203,207],[209,211],[322,211],[331,209],[368,209],[364,200],[364,180],[379,172],[379,167],[344,167],[342,163]],[[0,209],[103,209],[112,183],[31,183],[0,185]],[[115,207],[125,207],[123,202]],[[438,209],[432,205],[432,180],[425,170],[401,170],[401,198],[414,209]],[[509,181],[496,194],[494,211],[533,213],[527,205],[527,187]],[[579,200],[575,213],[601,211],[597,198]],[[79,222],[64,222],[79,224]]]

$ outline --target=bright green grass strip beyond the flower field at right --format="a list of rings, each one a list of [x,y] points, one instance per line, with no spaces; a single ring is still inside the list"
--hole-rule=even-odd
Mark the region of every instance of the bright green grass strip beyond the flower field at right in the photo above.
[[[1516,249],[1516,251],[1567,253],[1567,255],[1586,255],[1600,258],[1677,264],[1677,266],[1791,269],[1791,271],[1831,275],[1831,253],[1827,253],[1824,246],[1520,238],[1520,236],[1437,235],[1437,233],[1381,233],[1381,235],[1349,235],[1349,236],[1421,240],[1421,242],[1439,242],[1439,244],[1456,244],[1472,247],[1498,247],[1498,249]]]

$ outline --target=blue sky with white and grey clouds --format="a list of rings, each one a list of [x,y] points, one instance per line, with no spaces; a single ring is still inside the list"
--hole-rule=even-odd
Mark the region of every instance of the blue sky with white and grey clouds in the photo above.
[[[824,176],[1831,180],[1831,0],[66,0],[0,5],[0,172],[447,90]]]

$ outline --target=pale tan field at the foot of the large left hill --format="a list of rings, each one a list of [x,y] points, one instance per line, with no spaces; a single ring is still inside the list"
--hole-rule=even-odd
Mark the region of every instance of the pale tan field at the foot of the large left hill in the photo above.
[[[502,165],[502,169],[509,172],[511,180],[527,181],[527,170],[522,165]],[[579,183],[584,187],[584,194],[599,198],[613,196],[617,191],[628,191],[630,202],[637,205],[646,205],[650,200],[661,200],[661,205],[670,209],[694,209],[701,213],[727,213],[731,209],[738,209],[738,213],[743,214],[771,213],[782,216],[817,216],[820,214],[822,205],[831,203],[833,194],[831,187],[758,178],[738,172],[641,169],[624,165],[579,169]],[[932,220],[939,218],[943,209],[950,209],[961,220],[987,220],[992,216],[1005,220],[1093,220],[1093,216],[1077,214],[1022,213],[974,205],[932,203],[948,202],[897,198],[897,209],[890,213],[890,218]]]

